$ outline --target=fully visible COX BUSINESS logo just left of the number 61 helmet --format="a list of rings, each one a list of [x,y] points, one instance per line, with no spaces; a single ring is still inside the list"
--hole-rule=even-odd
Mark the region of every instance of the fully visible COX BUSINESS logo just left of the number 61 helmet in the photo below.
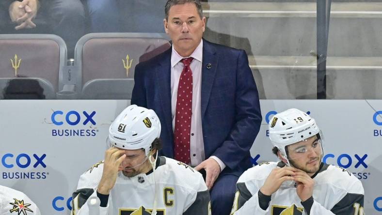
[[[94,137],[98,130],[93,128],[96,125],[94,116],[96,111],[90,113],[82,111],[81,114],[76,110],[64,112],[56,110],[52,113],[50,119],[53,124],[57,126],[70,125],[70,126],[87,126],[87,129],[52,129],[52,136],[54,137]]]

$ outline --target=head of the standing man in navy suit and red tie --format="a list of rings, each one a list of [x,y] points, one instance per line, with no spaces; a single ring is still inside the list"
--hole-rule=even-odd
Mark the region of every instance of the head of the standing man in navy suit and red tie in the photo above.
[[[194,3],[185,3],[172,6],[168,20],[164,19],[163,23],[175,50],[182,57],[187,57],[202,40],[206,17],[200,18]]]

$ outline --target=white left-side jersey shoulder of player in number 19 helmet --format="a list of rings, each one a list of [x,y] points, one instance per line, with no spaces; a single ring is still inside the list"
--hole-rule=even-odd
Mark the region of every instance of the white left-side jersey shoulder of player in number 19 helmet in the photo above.
[[[249,181],[262,181],[267,179],[272,169],[277,168],[277,162],[264,162],[250,169],[247,169],[238,180],[238,183],[246,183]]]

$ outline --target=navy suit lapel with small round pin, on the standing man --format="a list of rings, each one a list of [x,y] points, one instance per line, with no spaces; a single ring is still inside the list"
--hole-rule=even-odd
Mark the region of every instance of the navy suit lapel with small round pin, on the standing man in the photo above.
[[[215,48],[206,40],[203,40],[203,60],[202,60],[202,92],[201,92],[201,113],[202,119],[206,113],[212,84],[215,79],[218,66],[218,57]]]

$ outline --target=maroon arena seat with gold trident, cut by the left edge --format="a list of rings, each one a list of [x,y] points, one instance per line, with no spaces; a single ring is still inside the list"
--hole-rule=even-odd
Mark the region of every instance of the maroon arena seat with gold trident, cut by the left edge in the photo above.
[[[0,78],[40,78],[40,83],[58,92],[63,88],[65,61],[66,45],[57,35],[0,34]]]

